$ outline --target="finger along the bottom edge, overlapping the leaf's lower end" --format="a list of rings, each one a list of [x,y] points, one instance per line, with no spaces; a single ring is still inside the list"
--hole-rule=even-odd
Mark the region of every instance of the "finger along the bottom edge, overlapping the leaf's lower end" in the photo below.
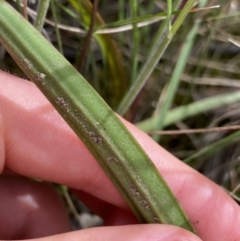
[[[90,228],[38,241],[201,241],[192,233],[167,225],[129,225],[118,227]],[[34,240],[29,240],[34,241]]]

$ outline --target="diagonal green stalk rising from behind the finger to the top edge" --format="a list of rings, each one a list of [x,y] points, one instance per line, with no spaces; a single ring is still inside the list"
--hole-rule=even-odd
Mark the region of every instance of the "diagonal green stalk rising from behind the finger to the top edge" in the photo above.
[[[170,29],[170,35],[173,37],[181,24],[183,23],[184,19],[190,12],[195,0],[188,0],[184,8],[182,9],[181,13],[179,14],[177,20],[174,22],[173,26]],[[131,88],[128,90],[127,94],[121,101],[117,112],[120,115],[124,115],[133,101],[135,100],[136,96],[146,83],[148,77],[154,70],[155,66],[159,62],[159,59],[162,57],[163,53],[165,52],[167,46],[171,42],[172,38],[169,38],[169,33],[165,33],[165,36],[159,36],[159,39],[154,43],[154,47],[151,49],[149,57],[141,69],[136,81],[132,84]],[[160,42],[160,43],[159,43]]]

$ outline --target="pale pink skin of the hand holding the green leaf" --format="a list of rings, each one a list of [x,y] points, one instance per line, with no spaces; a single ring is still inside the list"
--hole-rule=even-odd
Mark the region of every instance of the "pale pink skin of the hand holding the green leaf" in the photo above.
[[[89,151],[34,84],[0,72],[0,240],[240,240],[240,208],[231,197],[123,122],[168,182],[200,238],[170,225],[138,224]],[[64,205],[52,188],[26,177],[71,187],[103,217],[105,226],[70,232]]]

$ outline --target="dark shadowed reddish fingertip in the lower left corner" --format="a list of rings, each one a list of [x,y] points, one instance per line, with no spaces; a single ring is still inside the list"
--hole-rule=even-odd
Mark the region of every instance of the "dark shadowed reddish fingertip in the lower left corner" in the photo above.
[[[63,202],[46,184],[0,176],[0,240],[28,239],[71,230]]]

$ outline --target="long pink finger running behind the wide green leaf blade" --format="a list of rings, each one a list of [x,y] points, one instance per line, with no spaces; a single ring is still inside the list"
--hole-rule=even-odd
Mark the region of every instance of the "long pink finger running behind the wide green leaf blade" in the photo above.
[[[127,204],[36,87],[0,73],[0,169],[66,184],[117,207]],[[124,122],[160,170],[204,240],[240,239],[238,205],[214,183]],[[2,153],[2,152],[1,152]],[[26,168],[27,167],[27,168]]]

